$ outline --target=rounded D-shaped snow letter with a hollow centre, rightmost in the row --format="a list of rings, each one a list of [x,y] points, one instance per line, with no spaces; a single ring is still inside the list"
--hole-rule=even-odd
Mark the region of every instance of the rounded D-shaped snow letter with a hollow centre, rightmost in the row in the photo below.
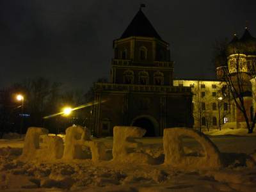
[[[184,137],[191,137],[198,141],[204,148],[205,156],[186,155],[182,145]],[[193,129],[164,129],[163,145],[164,163],[170,166],[189,170],[214,169],[222,166],[218,148],[207,136]]]

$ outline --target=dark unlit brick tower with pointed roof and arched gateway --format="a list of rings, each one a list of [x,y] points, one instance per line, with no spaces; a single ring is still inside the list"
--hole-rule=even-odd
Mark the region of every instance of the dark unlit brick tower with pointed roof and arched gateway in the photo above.
[[[112,135],[115,125],[143,127],[146,136],[162,136],[166,127],[192,127],[191,88],[173,86],[169,44],[141,10],[113,41],[113,50],[111,82],[95,83],[97,136]]]

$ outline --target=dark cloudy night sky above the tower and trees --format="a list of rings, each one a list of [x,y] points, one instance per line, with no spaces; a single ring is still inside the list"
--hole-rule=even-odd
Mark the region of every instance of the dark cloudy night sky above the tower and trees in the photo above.
[[[214,77],[212,44],[256,36],[255,0],[0,0],[0,87],[43,76],[86,90],[109,77],[112,42],[143,12],[170,43],[175,77]]]

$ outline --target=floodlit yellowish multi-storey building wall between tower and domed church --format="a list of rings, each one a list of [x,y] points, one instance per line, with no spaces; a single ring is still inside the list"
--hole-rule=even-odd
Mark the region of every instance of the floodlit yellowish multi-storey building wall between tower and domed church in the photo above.
[[[191,86],[193,92],[193,117],[194,128],[199,129],[218,129],[219,128],[219,110],[221,125],[224,123],[224,117],[230,118],[230,105],[228,99],[223,97],[221,88],[225,85],[222,81],[201,81],[201,80],[184,80],[178,79],[173,81],[173,86]],[[222,97],[223,100],[218,98]],[[224,110],[224,103],[228,104],[227,110]],[[205,104],[205,109],[202,107]],[[215,103],[216,108],[214,108]],[[202,118],[205,118],[205,125]],[[216,118],[216,122],[214,119]],[[216,123],[216,124],[215,124]]]

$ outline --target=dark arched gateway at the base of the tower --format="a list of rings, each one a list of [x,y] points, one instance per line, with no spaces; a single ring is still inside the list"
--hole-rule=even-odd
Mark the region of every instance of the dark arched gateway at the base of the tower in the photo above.
[[[154,137],[159,136],[158,131],[158,123],[157,120],[149,115],[141,115],[132,120],[131,126],[141,127],[146,129],[146,133],[144,136],[146,137]]]

